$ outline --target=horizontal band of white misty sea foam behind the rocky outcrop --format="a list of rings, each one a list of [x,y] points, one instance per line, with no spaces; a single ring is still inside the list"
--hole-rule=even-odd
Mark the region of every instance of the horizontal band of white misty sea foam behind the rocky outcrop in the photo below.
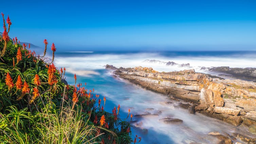
[[[150,63],[145,60],[158,60],[159,62]],[[178,64],[189,63],[191,67],[166,66],[165,62],[173,61]],[[135,54],[91,54],[80,57],[57,57],[55,63],[60,66],[72,69],[104,69],[106,64],[115,67],[152,67],[157,71],[179,71],[194,68],[197,72],[203,72],[201,67],[230,66],[230,67],[256,67],[256,57],[252,55],[228,56],[228,57],[197,57],[180,56],[166,57],[158,53],[135,53]]]

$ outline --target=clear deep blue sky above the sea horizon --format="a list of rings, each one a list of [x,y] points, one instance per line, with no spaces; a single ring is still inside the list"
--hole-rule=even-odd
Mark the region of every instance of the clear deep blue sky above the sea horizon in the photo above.
[[[0,12],[11,37],[57,50],[256,50],[256,0],[4,0]]]

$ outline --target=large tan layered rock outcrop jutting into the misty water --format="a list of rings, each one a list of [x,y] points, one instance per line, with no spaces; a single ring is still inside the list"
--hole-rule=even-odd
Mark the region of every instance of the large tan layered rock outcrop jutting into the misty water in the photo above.
[[[233,125],[256,124],[256,84],[242,80],[221,80],[211,78],[194,69],[158,72],[152,68],[115,68],[114,74],[140,85],[143,88],[160,92],[172,99],[193,102],[186,108],[204,115],[223,120]],[[225,69],[225,68],[223,68]],[[193,113],[193,112],[191,112]]]

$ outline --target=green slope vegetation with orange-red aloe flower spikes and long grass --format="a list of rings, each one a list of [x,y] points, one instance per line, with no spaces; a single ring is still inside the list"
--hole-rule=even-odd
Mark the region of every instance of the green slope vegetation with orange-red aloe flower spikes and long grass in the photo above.
[[[31,52],[8,36],[8,16],[0,36],[0,143],[77,144],[140,142],[131,137],[130,123],[118,118],[120,106],[112,113],[104,110],[99,95],[86,84],[63,82],[66,68],[58,70],[51,62]],[[44,40],[45,52],[48,42]],[[56,51],[52,44],[52,61]],[[74,76],[75,84],[77,82]],[[128,114],[129,115],[129,114]],[[138,140],[136,140],[138,139]]]

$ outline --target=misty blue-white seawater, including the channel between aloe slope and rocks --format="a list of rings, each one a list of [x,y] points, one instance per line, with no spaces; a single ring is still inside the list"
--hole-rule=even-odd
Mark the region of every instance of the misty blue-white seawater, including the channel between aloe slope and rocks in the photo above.
[[[177,101],[170,100],[167,96],[145,90],[130,82],[112,76],[111,70],[106,70],[105,65],[111,64],[116,67],[147,66],[158,71],[178,71],[187,67],[171,67],[165,63],[147,63],[146,59],[159,60],[163,62],[174,61],[176,63],[190,63],[192,68],[200,71],[201,66],[231,66],[231,67],[256,67],[252,59],[255,57],[244,58],[234,57],[236,54],[223,56],[205,55],[175,55],[152,53],[60,53],[55,58],[57,67],[66,67],[66,80],[69,84],[74,84],[73,76],[76,74],[77,82],[87,83],[86,88],[94,88],[94,95],[99,94],[100,99],[106,97],[105,110],[111,112],[113,107],[120,104],[119,117],[123,120],[131,109],[133,120],[132,134],[142,137],[142,144],[174,144],[191,142],[217,143],[218,140],[207,133],[219,131],[221,133],[232,134],[233,132],[243,132],[242,127],[235,127],[222,121],[203,116],[201,114],[190,114],[187,109],[178,106]],[[238,55],[238,54],[237,54]],[[246,55],[250,57],[250,53]],[[185,103],[185,102],[183,102]],[[158,116],[135,117],[138,114],[158,114]],[[178,124],[166,124],[159,119],[177,118],[183,120]],[[126,119],[130,121],[130,117]],[[134,138],[133,137],[133,138]]]

